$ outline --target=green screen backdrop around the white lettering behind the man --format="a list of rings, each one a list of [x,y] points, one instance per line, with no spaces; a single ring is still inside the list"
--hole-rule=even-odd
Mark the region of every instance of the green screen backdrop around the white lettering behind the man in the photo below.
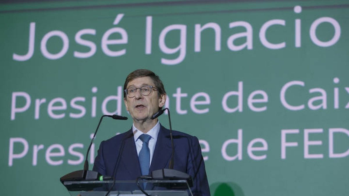
[[[296,14],[295,6],[302,12]],[[165,84],[169,96],[169,109],[173,129],[195,135],[209,144],[205,161],[211,194],[215,196],[269,196],[269,195],[337,195],[349,194],[349,157],[329,157],[329,129],[349,129],[348,52],[349,52],[349,4],[347,1],[39,1],[2,2],[0,4],[0,119],[1,119],[1,195],[68,195],[59,178],[68,172],[82,169],[83,164],[70,165],[68,160],[79,158],[70,154],[68,148],[75,143],[84,148],[75,148],[84,154],[90,143],[102,113],[103,100],[108,96],[120,96],[118,86],[124,84],[125,77],[135,69],[153,70]],[[114,25],[116,16],[125,14],[119,24]],[[146,17],[153,17],[152,51],[145,53]],[[331,17],[341,28],[339,40],[332,46],[320,47],[310,38],[312,23],[321,17]],[[280,19],[285,25],[273,25],[267,30],[270,43],[285,42],[286,46],[272,50],[265,47],[259,38],[259,31],[267,21]],[[295,20],[301,21],[301,46],[295,47]],[[231,51],[227,40],[236,33],[245,32],[243,27],[229,28],[229,23],[245,21],[252,26],[253,48]],[[13,54],[24,55],[28,51],[29,25],[35,22],[34,54],[27,61],[16,61]],[[215,51],[214,31],[201,33],[201,51],[194,51],[195,24],[216,23],[221,29],[221,50]],[[179,52],[166,54],[159,47],[159,35],[169,25],[186,25],[186,55],[176,65],[164,65],[161,58],[176,59]],[[128,35],[127,44],[111,45],[110,50],[126,49],[122,56],[108,56],[101,48],[104,33],[114,27],[123,28]],[[96,53],[89,58],[76,58],[74,51],[88,52],[87,46],[76,43],[74,37],[82,29],[95,29],[95,35],[84,35],[83,39],[96,45]],[[46,33],[54,30],[64,32],[69,39],[69,48],[62,58],[47,59],[40,50],[40,42]],[[327,42],[334,35],[330,23],[321,23],[316,35]],[[114,33],[110,39],[118,39]],[[240,45],[246,38],[236,39]],[[179,31],[169,32],[166,46],[175,48],[179,44]],[[47,42],[47,50],[58,53],[62,40],[57,36]],[[339,83],[334,83],[334,78]],[[286,93],[291,105],[304,104],[304,109],[291,111],[280,101],[282,86],[290,81],[303,81],[304,86],[292,86]],[[243,83],[242,111],[226,112],[222,107],[225,93],[238,90]],[[93,93],[91,89],[97,87]],[[179,103],[173,95],[177,88],[187,93]],[[327,108],[311,110],[308,100],[320,96],[310,89],[326,91]],[[334,107],[334,91],[339,91],[339,107]],[[268,95],[267,103],[255,103],[255,107],[267,106],[262,112],[248,107],[248,96],[256,90]],[[349,89],[348,89],[349,91]],[[26,92],[31,104],[28,110],[16,113],[11,120],[13,92]],[[191,109],[191,98],[199,92],[210,97],[210,104],[197,105],[209,112],[197,114]],[[79,113],[70,106],[70,100],[84,97],[77,102],[86,108],[82,118],[70,118],[69,113]],[[92,98],[95,97],[96,116],[92,116]],[[46,99],[40,106],[39,119],[35,119],[35,100]],[[63,98],[67,109],[54,111],[65,117],[53,119],[47,113],[49,102]],[[261,98],[261,96],[256,96]],[[203,97],[197,99],[204,100]],[[18,97],[16,107],[23,107],[25,99]],[[121,100],[122,101],[122,100]],[[237,106],[238,99],[231,96],[227,105]],[[315,101],[314,105],[321,104]],[[57,104],[59,105],[59,104]],[[117,110],[117,101],[107,104],[109,112]],[[129,116],[121,103],[121,114]],[[159,118],[169,127],[167,116]],[[95,155],[98,144],[116,133],[128,130],[132,120],[113,121],[105,119],[95,140]],[[242,159],[225,160],[221,149],[223,143],[238,137],[242,129]],[[281,158],[281,130],[298,129],[298,134],[288,134],[287,142],[297,142],[297,147],[286,148],[286,158]],[[309,153],[323,154],[323,158],[304,157],[304,129],[322,129],[321,133],[309,134],[310,141],[321,141],[321,145],[309,146]],[[28,142],[28,153],[20,159],[13,159],[9,166],[10,138],[24,138]],[[266,151],[254,151],[256,156],[266,154],[263,160],[253,160],[248,156],[248,143],[262,138],[268,144]],[[34,145],[42,144],[38,151],[37,165],[33,165]],[[50,165],[45,159],[49,146],[60,144],[65,155],[52,157],[62,160],[60,165]],[[261,146],[256,143],[254,147]],[[202,145],[202,148],[205,146]],[[349,135],[334,134],[334,152],[343,153],[349,149]],[[14,153],[21,153],[23,145],[14,143]],[[59,152],[58,149],[52,152]],[[237,145],[227,148],[229,156],[235,156]],[[83,155],[85,156],[85,155]],[[90,163],[90,168],[92,164]]]

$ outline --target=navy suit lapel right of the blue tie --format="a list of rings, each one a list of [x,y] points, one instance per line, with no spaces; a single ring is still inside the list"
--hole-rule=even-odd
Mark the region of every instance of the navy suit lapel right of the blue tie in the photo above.
[[[171,153],[170,131],[161,126],[149,171],[165,168],[171,158]]]

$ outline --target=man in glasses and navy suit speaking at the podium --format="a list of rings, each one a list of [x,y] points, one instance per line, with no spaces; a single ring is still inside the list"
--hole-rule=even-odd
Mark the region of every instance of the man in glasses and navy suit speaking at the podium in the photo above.
[[[154,170],[169,168],[170,130],[157,118],[151,119],[165,101],[164,85],[156,74],[146,69],[130,73],[124,84],[124,103],[133,119],[132,129],[101,143],[93,170],[116,180],[136,180]],[[192,176],[193,195],[210,196],[198,138],[173,131],[173,143],[173,169]]]

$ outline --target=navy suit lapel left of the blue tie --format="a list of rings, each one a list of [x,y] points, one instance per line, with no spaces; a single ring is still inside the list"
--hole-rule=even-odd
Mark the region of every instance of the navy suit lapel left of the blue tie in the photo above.
[[[121,161],[124,164],[129,175],[133,176],[134,179],[142,175],[132,129],[129,130],[126,135]]]

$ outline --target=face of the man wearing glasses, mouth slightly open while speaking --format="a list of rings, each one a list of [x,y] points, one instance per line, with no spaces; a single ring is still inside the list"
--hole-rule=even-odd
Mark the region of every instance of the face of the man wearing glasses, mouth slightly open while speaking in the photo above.
[[[139,77],[127,84],[127,88],[141,88],[142,86],[154,86],[153,80],[150,77]],[[158,91],[152,89],[150,95],[142,95],[140,89],[136,90],[134,97],[129,98],[126,95],[124,98],[126,110],[131,114],[133,121],[150,120],[159,107],[164,106],[166,95],[158,96]]]

